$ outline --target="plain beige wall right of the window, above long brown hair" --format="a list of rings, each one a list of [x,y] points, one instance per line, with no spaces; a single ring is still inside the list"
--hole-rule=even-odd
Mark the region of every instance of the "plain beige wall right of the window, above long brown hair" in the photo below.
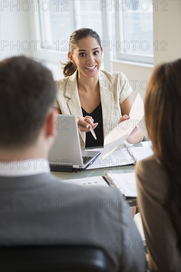
[[[167,11],[153,12],[153,40],[158,41],[154,65],[181,58],[181,0],[163,2],[168,3],[164,8],[162,4],[162,9]]]

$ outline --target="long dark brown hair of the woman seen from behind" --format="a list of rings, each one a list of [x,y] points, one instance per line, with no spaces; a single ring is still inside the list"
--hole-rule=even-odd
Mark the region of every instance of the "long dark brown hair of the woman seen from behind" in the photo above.
[[[169,176],[169,199],[181,212],[181,59],[154,70],[144,106],[153,151]]]

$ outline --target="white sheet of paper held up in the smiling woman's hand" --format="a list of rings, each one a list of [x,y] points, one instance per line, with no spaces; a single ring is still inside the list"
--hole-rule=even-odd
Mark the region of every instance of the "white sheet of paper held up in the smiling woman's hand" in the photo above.
[[[103,159],[108,157],[121,143],[124,142],[144,116],[144,103],[139,93],[136,95],[136,99],[129,116],[129,120],[119,123],[108,135],[105,136]]]

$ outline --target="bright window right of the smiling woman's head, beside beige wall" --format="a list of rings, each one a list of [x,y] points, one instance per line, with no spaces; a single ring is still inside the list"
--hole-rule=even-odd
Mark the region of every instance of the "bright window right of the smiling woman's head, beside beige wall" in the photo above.
[[[113,58],[153,63],[152,0],[114,2],[115,8],[110,12],[115,25],[111,45]]]

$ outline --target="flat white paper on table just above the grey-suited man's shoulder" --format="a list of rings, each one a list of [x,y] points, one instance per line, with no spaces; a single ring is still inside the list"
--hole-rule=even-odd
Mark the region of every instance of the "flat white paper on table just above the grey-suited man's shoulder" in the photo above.
[[[89,177],[82,179],[72,179],[72,180],[64,180],[66,183],[78,184],[78,185],[86,185],[86,186],[108,186],[106,181],[101,176],[98,177]]]

